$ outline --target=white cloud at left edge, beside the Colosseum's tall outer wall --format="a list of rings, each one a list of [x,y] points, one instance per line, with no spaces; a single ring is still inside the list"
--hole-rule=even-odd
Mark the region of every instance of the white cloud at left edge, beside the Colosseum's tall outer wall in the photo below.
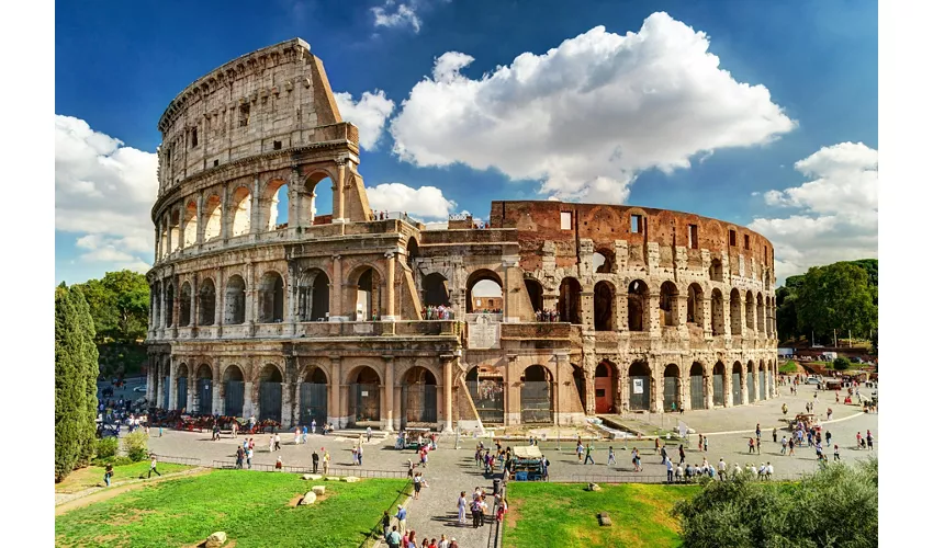
[[[81,261],[102,270],[149,267],[157,165],[151,152],[55,116],[55,229],[76,236]]]

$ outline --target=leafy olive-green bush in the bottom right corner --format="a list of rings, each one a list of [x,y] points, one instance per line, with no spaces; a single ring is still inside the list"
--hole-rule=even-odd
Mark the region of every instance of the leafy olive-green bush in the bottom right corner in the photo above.
[[[745,475],[708,481],[673,514],[684,546],[816,548],[878,546],[878,461],[829,465],[791,484]]]

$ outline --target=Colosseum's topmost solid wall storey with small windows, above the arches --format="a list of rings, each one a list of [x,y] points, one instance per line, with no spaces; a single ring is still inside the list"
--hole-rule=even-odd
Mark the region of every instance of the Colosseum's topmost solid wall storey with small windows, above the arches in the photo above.
[[[211,168],[273,150],[347,140],[324,65],[294,38],[238,57],[199,78],[158,124],[159,195]]]

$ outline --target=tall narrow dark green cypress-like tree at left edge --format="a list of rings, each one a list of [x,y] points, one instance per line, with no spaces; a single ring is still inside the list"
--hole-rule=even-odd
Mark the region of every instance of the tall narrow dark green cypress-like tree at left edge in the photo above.
[[[55,288],[55,480],[93,456],[98,350],[81,290]]]

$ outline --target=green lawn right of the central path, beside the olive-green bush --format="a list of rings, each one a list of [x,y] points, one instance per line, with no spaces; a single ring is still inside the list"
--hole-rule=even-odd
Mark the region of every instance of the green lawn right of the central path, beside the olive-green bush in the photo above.
[[[695,486],[517,482],[508,484],[509,502],[503,534],[505,548],[593,548],[681,546],[671,509],[698,492]],[[608,512],[612,525],[596,515]]]

